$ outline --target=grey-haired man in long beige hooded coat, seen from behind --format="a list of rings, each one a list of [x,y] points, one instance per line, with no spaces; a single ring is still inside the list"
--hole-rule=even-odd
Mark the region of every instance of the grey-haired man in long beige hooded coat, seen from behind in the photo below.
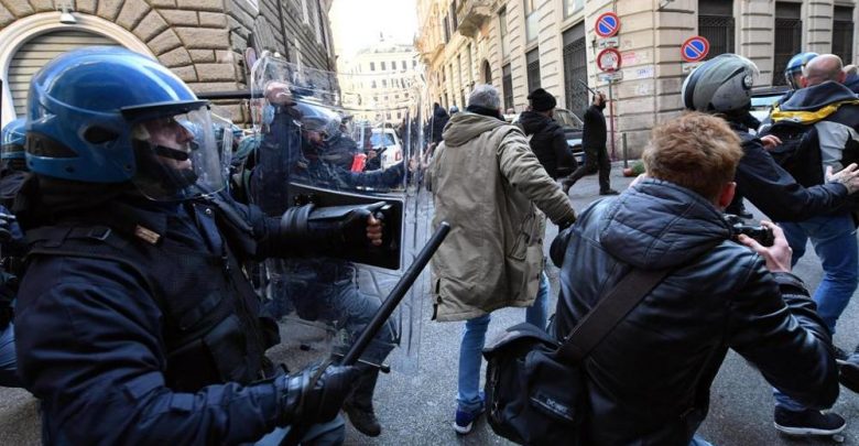
[[[540,293],[544,302],[534,302],[543,271],[544,213],[562,227],[576,214],[522,131],[503,120],[494,87],[478,85],[443,135],[427,174],[433,224],[447,221],[452,231],[433,258],[433,317],[466,320],[454,428],[467,434],[483,412],[478,388],[489,314],[529,307],[526,319],[545,327],[548,292]]]

